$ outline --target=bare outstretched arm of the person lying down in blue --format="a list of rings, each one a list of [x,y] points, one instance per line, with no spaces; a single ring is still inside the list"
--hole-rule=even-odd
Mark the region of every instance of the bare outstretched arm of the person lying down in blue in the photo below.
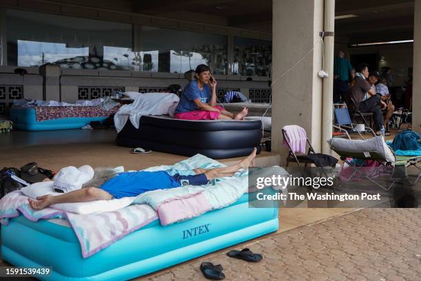
[[[112,198],[113,196],[107,191],[97,187],[86,187],[58,196],[47,194],[37,197],[36,200],[28,199],[28,201],[32,209],[41,210],[57,203],[89,202],[94,200],[111,200]]]

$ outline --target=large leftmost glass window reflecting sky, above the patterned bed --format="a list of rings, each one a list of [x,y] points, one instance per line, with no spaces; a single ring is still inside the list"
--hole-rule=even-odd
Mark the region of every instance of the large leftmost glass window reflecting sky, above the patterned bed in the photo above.
[[[7,10],[8,65],[134,70],[131,24]]]

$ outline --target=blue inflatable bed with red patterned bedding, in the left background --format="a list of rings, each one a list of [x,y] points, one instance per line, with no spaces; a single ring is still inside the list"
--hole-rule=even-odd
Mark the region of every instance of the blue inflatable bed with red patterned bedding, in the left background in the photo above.
[[[104,121],[116,110],[105,111],[99,106],[12,107],[10,121],[15,129],[25,131],[79,129],[91,121]]]

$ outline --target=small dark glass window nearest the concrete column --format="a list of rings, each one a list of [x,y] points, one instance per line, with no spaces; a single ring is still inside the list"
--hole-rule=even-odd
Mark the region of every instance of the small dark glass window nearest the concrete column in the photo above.
[[[230,72],[244,76],[270,76],[272,41],[234,37]]]

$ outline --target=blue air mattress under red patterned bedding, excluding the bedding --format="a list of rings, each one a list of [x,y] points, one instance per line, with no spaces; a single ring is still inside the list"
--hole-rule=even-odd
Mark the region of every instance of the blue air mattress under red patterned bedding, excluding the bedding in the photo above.
[[[80,129],[91,121],[104,121],[107,117],[74,117],[58,118],[47,121],[36,121],[35,110],[31,107],[12,107],[10,121],[14,129],[25,131],[52,131],[56,129]]]

